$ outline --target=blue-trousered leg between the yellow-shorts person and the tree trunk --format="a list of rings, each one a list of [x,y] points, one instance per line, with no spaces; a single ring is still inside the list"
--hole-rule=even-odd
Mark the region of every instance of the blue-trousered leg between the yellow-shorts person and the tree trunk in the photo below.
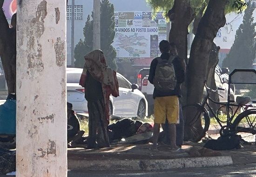
[[[179,119],[180,123],[176,125],[176,145],[181,147],[184,139],[184,118],[181,103],[179,103]]]

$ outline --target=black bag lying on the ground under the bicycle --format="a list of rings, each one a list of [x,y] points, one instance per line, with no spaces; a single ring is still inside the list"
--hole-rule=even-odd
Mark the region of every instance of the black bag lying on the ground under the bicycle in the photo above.
[[[241,148],[240,142],[241,136],[239,135],[221,136],[218,139],[208,140],[203,147],[215,151],[239,149]]]

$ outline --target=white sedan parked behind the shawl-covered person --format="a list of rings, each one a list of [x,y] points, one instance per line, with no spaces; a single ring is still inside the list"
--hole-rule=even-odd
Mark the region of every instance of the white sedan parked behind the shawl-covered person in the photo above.
[[[76,113],[88,116],[87,100],[84,98],[84,88],[79,85],[82,73],[81,68],[67,68],[67,102],[73,105]],[[119,84],[119,97],[109,98],[109,111],[111,118],[138,117],[148,115],[148,102],[139,91],[138,86],[131,84],[120,73],[116,73]]]

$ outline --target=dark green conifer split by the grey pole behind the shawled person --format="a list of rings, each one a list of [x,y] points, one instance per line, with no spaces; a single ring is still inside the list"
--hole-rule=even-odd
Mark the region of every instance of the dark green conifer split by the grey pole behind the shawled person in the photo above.
[[[92,12],[93,18],[93,12]],[[84,66],[84,56],[93,50],[93,20],[88,15],[83,28],[84,40],[80,39],[74,48],[75,67]],[[115,62],[116,51],[111,45],[115,37],[114,6],[108,0],[101,1],[101,50],[104,52],[107,64],[113,70],[117,70]]]

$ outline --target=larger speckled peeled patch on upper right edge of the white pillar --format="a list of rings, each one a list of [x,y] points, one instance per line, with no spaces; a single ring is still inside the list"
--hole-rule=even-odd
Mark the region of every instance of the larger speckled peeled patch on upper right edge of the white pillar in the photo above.
[[[65,41],[61,40],[61,38],[57,38],[54,49],[56,53],[56,65],[63,66],[65,61]]]

